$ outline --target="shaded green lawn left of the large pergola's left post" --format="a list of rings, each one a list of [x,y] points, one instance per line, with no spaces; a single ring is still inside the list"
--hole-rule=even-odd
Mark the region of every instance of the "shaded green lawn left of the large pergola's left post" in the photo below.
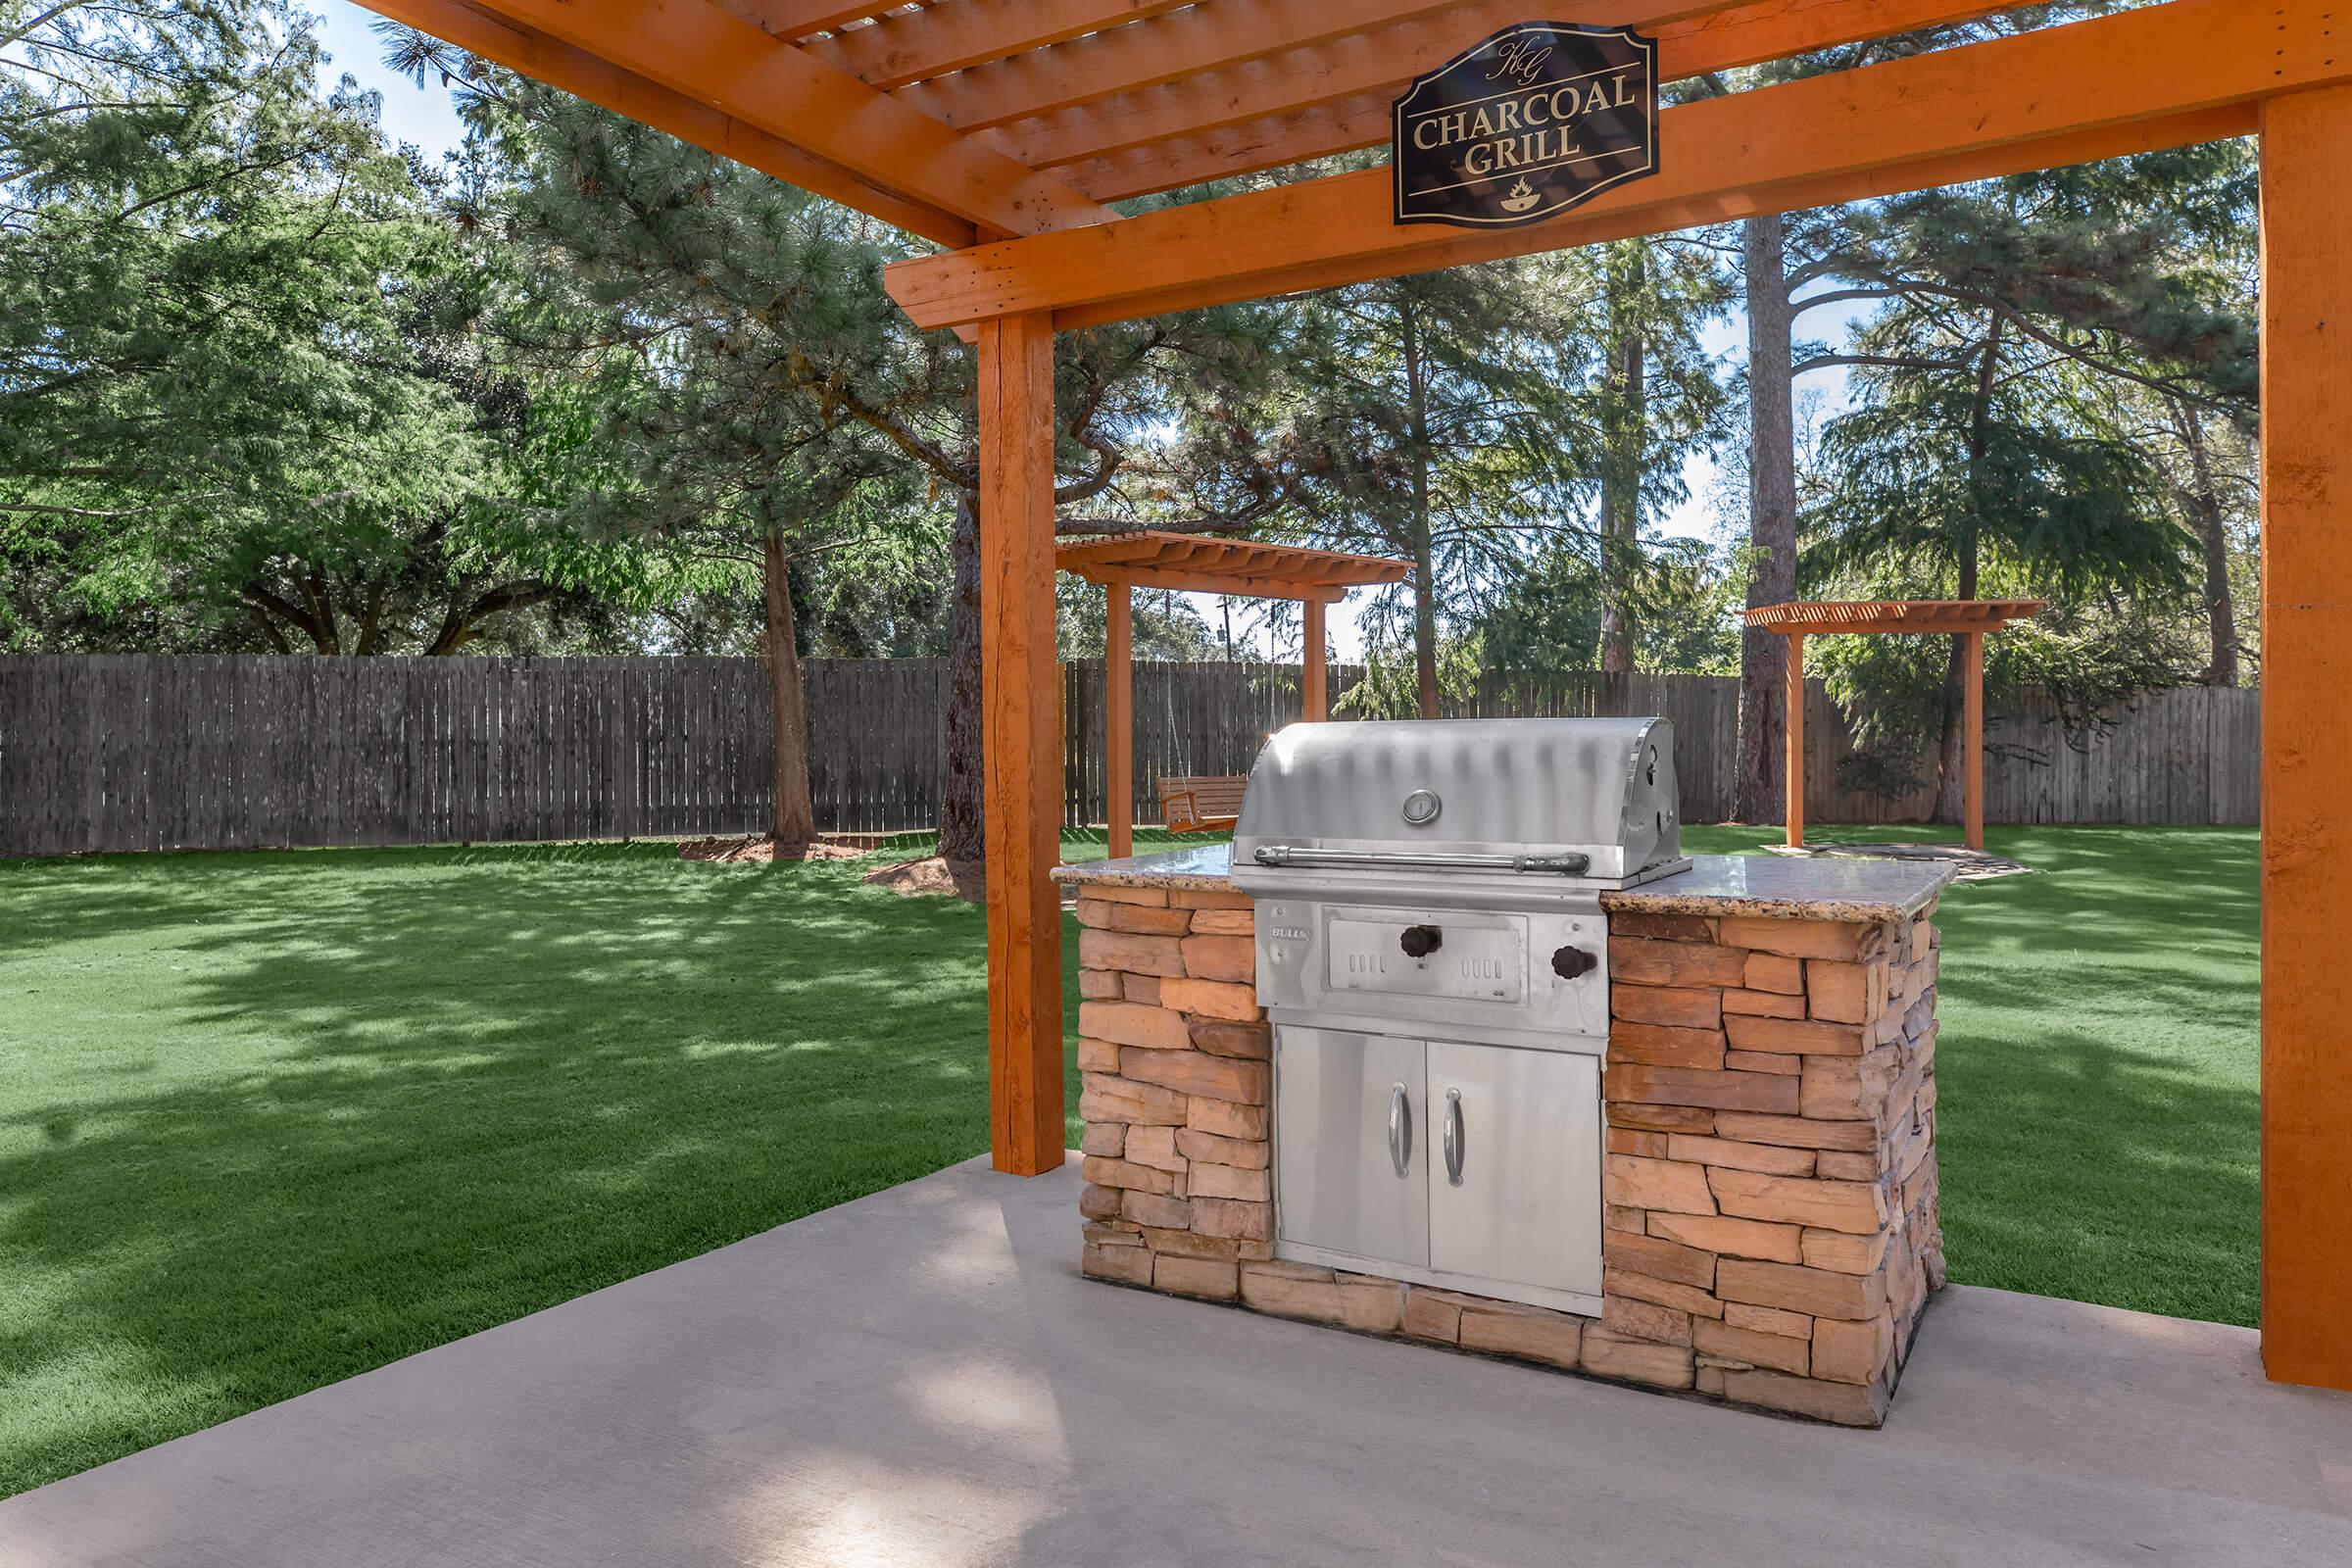
[[[861,870],[0,865],[0,1493],[983,1152],[983,917]]]

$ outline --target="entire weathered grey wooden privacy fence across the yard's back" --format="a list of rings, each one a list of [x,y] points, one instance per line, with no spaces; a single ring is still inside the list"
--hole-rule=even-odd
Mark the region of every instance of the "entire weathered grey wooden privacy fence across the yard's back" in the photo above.
[[[934,825],[946,661],[814,658],[804,672],[818,827]],[[1331,689],[1359,677],[1334,668]],[[1065,820],[1101,823],[1103,665],[1063,679]],[[1731,813],[1729,677],[1494,675],[1444,708],[1665,715],[1684,818]],[[1160,820],[1162,773],[1242,773],[1296,717],[1296,665],[1138,663],[1136,820]],[[2258,820],[2256,691],[2159,691],[2117,719],[2077,750],[2046,698],[1997,710],[1987,820]],[[1844,788],[1853,748],[1818,684],[1806,743],[1813,820],[1926,816],[1926,790]],[[748,658],[0,656],[0,856],[757,832],[769,766],[767,672]]]

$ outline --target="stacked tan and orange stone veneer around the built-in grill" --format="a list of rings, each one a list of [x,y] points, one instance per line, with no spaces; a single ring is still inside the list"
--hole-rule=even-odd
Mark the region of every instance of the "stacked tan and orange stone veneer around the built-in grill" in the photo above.
[[[1602,1316],[1275,1260],[1251,905],[1080,889],[1082,1267],[1849,1425],[1943,1284],[1936,929],[1611,912]]]

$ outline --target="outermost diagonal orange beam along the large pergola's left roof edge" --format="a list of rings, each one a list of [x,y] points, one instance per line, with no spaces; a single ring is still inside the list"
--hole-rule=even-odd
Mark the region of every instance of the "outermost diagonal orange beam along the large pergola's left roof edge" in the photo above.
[[[682,92],[623,71],[557,38],[548,38],[539,28],[492,16],[463,0],[360,2],[393,21],[452,42],[468,54],[477,54],[508,71],[520,71],[532,80],[569,92],[600,108],[623,113],[720,158],[734,158],[802,190],[856,207],[858,212],[870,212],[884,223],[896,223],[924,240],[960,247],[971,244],[976,237],[969,221],[943,207],[931,207],[929,202],[877,186]]]

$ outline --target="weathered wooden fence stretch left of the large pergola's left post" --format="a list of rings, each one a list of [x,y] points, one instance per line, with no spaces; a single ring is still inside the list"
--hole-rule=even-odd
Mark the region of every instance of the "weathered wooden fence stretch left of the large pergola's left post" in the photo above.
[[[943,661],[814,661],[823,827],[938,816]],[[750,658],[0,656],[0,856],[753,832]]]

